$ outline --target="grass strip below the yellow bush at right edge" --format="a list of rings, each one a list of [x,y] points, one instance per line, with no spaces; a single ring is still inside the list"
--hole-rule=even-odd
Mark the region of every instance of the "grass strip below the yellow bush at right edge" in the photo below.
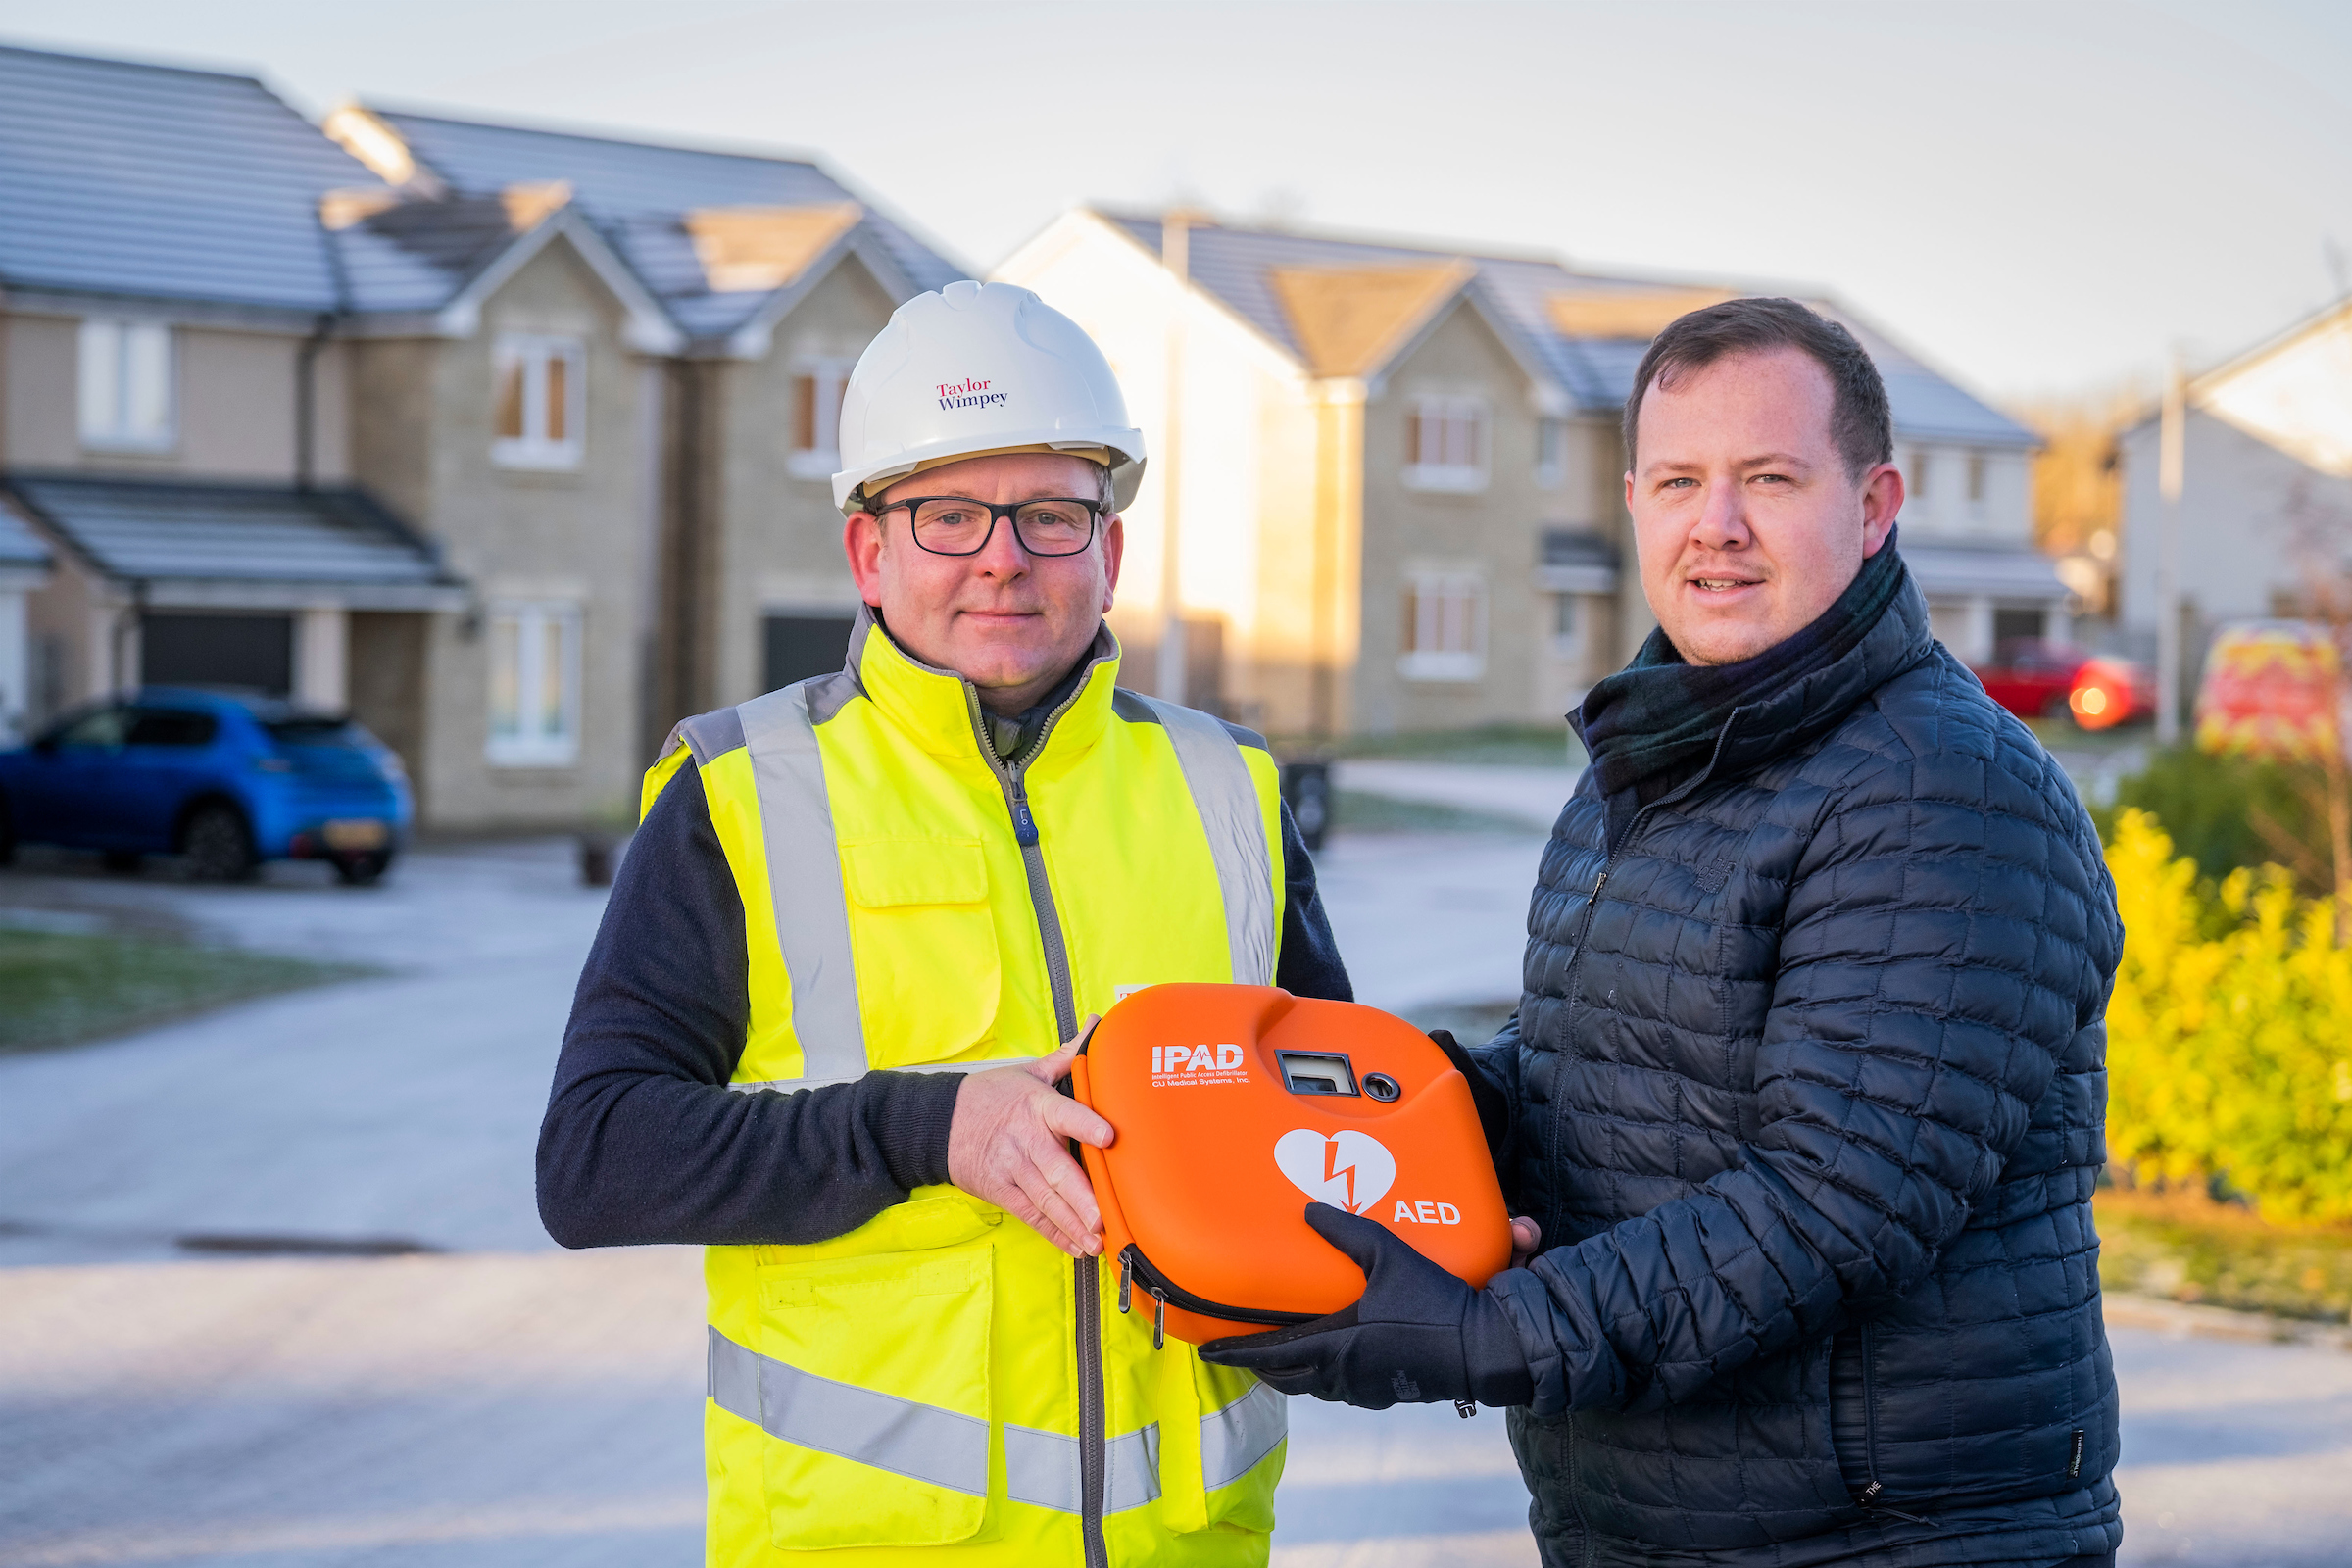
[[[2352,1319],[2352,1227],[2288,1229],[2201,1192],[2100,1187],[2098,1279],[2201,1307]]]

